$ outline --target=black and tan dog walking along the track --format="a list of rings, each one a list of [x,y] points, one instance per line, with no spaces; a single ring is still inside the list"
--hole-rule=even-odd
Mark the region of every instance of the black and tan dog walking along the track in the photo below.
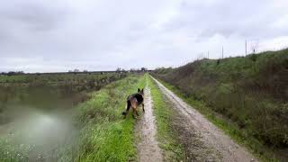
[[[140,90],[138,88],[137,94],[130,94],[127,97],[127,108],[126,108],[125,112],[122,112],[122,115],[124,115],[124,118],[126,118],[126,115],[128,114],[130,107],[132,107],[133,118],[136,118],[134,113],[136,113],[137,116],[139,116],[139,113],[137,112],[137,107],[140,104],[142,104],[143,112],[145,112],[145,110],[144,110],[144,89]]]

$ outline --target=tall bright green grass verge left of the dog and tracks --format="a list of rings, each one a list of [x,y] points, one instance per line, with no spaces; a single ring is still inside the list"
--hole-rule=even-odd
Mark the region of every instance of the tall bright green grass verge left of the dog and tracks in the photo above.
[[[80,106],[85,122],[78,161],[130,161],[136,160],[131,115],[122,119],[128,94],[144,87],[141,76],[129,76],[105,86],[93,94],[93,99]]]

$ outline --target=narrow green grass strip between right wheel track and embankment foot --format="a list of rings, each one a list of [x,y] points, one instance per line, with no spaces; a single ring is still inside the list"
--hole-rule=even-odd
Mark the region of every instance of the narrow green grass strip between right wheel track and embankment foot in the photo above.
[[[263,161],[277,161],[275,156],[273,155],[272,150],[266,148],[261,142],[259,142],[254,137],[247,137],[246,130],[238,129],[237,124],[229,121],[228,119],[220,116],[219,114],[213,112],[206,103],[195,100],[191,97],[186,97],[184,94],[177,89],[174,85],[170,85],[163,80],[159,80],[163,85],[166,86],[169,90],[174,92],[178,97],[182,98],[185,103],[190,104],[201,112],[209,121],[214,123],[218,128],[223,130],[226,134],[228,134],[232,139],[237,141],[240,145],[244,145],[247,147],[254,155],[259,157]]]

